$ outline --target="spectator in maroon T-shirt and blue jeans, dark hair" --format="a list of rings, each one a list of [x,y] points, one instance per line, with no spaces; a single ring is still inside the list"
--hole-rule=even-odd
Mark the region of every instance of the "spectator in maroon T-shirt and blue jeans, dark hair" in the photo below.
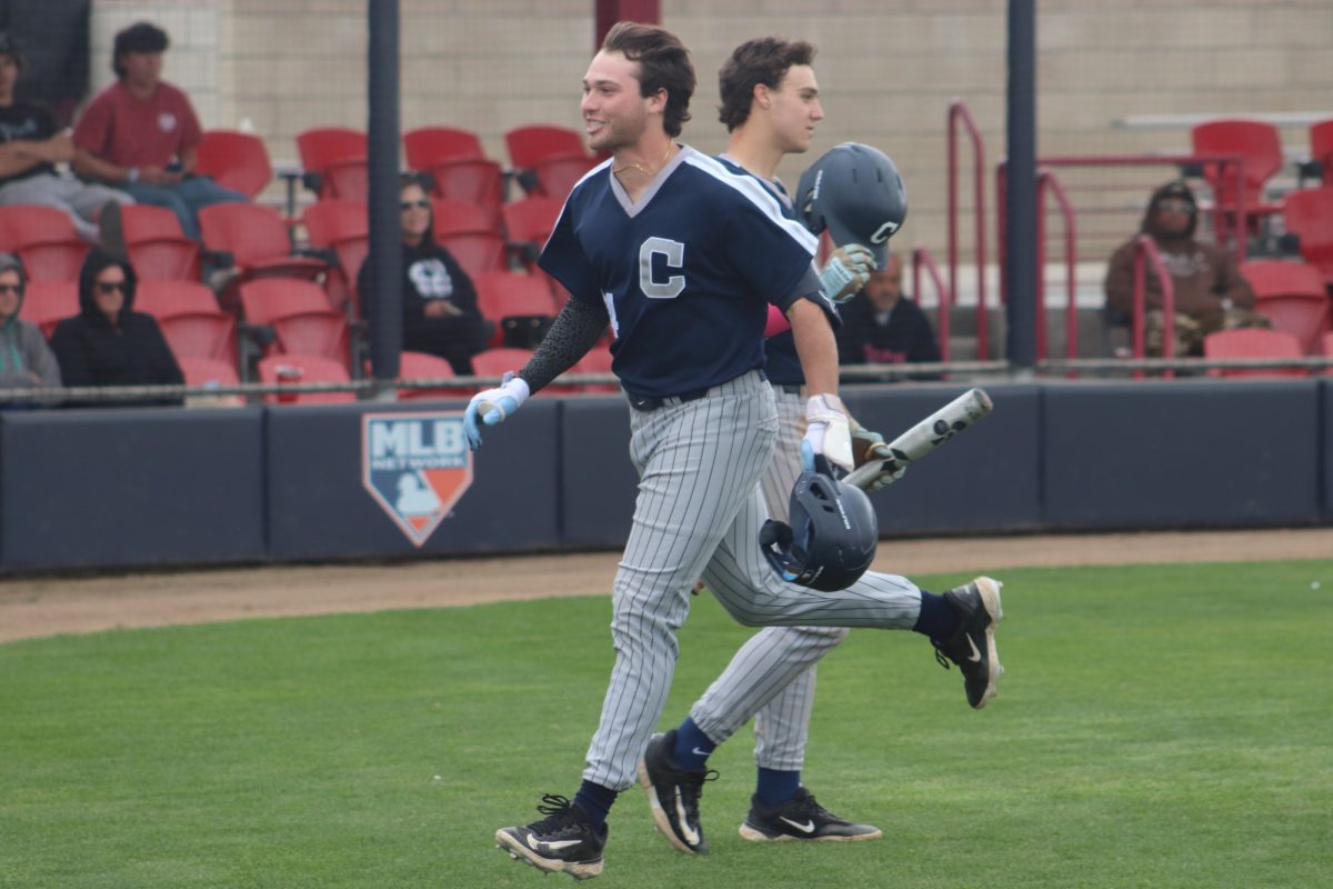
[[[199,240],[200,208],[248,199],[195,173],[203,129],[189,97],[161,79],[167,45],[167,32],[147,21],[116,35],[117,81],[75,124],[75,171],[165,207],[185,236]]]

